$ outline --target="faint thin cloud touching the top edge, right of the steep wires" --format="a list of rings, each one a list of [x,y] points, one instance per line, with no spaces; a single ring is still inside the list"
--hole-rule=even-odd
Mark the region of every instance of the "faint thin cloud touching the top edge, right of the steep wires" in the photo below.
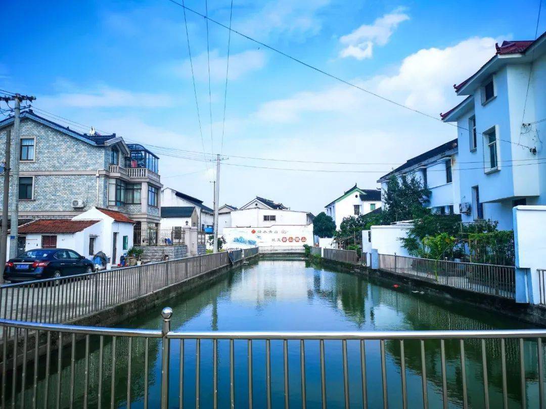
[[[308,37],[321,29],[318,11],[328,5],[330,0],[271,0],[259,10],[233,23],[233,27],[242,33],[259,38],[272,34],[291,34],[296,37]]]

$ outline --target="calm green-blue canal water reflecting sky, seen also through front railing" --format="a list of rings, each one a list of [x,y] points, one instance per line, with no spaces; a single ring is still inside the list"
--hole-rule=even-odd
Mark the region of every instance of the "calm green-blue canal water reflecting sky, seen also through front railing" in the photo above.
[[[191,331],[317,331],[317,330],[464,330],[529,328],[512,320],[502,311],[488,312],[440,296],[415,293],[403,285],[394,287],[365,275],[336,271],[302,260],[260,260],[222,275],[212,282],[170,299],[165,306],[173,308],[171,329]],[[120,323],[124,328],[161,328],[161,308],[153,308]],[[502,407],[502,376],[500,341],[485,343],[490,407]],[[161,381],[161,342],[150,339],[149,359],[145,362],[145,341],[134,339],[131,345],[129,399],[132,407],[143,407],[145,373],[149,384],[149,407],[157,407]],[[283,341],[271,341],[272,407],[284,406]],[[484,406],[482,345],[478,340],[465,341],[468,401],[471,407]],[[70,348],[62,355],[61,407],[68,406]],[[183,402],[195,407],[196,341],[184,342]],[[407,394],[409,407],[423,407],[422,358],[420,342],[404,342]],[[103,358],[99,360],[99,341],[90,342],[88,402],[97,406],[98,367],[103,369],[100,400],[103,407],[127,406],[128,341],[118,338],[112,377],[112,341],[104,338]],[[253,352],[253,407],[267,406],[265,341],[255,340]],[[248,407],[247,341],[234,341],[235,407]],[[218,341],[218,401],[219,407],[229,407],[230,368],[229,341]],[[446,341],[446,382],[450,407],[462,407],[460,344]],[[76,346],[75,405],[83,402],[85,342]],[[365,342],[366,390],[369,407],[383,406],[381,353],[379,341]],[[521,393],[520,347],[517,340],[506,341],[508,404],[527,407],[538,404],[537,343],[525,341],[525,396]],[[305,342],[305,375],[307,407],[322,407],[321,363],[319,341]],[[388,406],[402,407],[401,349],[399,341],[385,342]],[[362,407],[363,387],[360,370],[359,341],[347,341],[349,400],[352,407]],[[40,358],[38,400],[45,398],[45,370]],[[55,396],[57,387],[57,357],[51,357],[48,390]],[[325,341],[325,375],[327,406],[345,406],[341,341]],[[179,402],[180,341],[171,342],[170,406]],[[300,342],[288,341],[289,404],[301,407]],[[212,341],[200,342],[200,406],[212,407]],[[429,407],[442,407],[442,368],[440,341],[425,341],[425,368]],[[25,391],[32,400],[32,383]],[[110,391],[114,387],[115,394]],[[9,387],[8,387],[9,388]],[[20,395],[20,393],[19,393]],[[20,399],[20,397],[18,398]],[[51,399],[50,399],[51,400]],[[54,404],[55,402],[51,402]],[[39,405],[40,406],[40,405]]]

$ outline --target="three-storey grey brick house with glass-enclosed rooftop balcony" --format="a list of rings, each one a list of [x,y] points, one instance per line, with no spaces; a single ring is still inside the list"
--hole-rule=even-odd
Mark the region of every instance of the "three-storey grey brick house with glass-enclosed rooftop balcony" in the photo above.
[[[13,122],[13,117],[0,121],[0,161]],[[71,219],[100,207],[126,214],[135,230],[157,230],[163,185],[155,154],[116,134],[79,133],[30,109],[21,113],[20,135],[21,219]],[[13,165],[13,140],[11,146]],[[0,203],[2,193],[0,185]]]

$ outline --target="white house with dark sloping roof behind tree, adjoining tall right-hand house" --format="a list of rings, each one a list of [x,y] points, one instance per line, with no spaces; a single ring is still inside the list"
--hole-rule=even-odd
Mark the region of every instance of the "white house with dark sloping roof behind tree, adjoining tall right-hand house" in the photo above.
[[[458,142],[449,141],[430,151],[408,159],[405,164],[383,175],[382,191],[387,191],[387,182],[392,175],[401,178],[402,175],[414,175],[430,190],[427,207],[438,214],[459,213],[459,171]]]

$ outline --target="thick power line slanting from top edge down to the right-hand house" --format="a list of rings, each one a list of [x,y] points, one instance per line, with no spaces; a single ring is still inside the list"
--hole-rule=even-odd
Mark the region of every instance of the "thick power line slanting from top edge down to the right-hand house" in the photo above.
[[[260,46],[263,46],[263,47],[265,47],[266,49],[269,49],[269,50],[274,51],[274,52],[276,52],[276,53],[278,53],[278,54],[280,54],[280,55],[282,55],[282,56],[284,56],[284,57],[287,57],[288,59],[291,59],[292,61],[294,61],[294,62],[296,62],[296,63],[298,63],[298,64],[304,65],[305,67],[310,68],[310,69],[312,69],[312,70],[314,70],[314,71],[317,71],[318,73],[321,73],[321,74],[323,74],[323,75],[326,75],[326,76],[330,77],[331,79],[334,79],[334,80],[336,80],[336,81],[342,82],[342,83],[344,83],[345,85],[348,85],[349,87],[353,87],[353,88],[359,89],[360,91],[363,91],[363,92],[365,92],[365,93],[367,93],[367,94],[373,95],[373,97],[382,99],[382,100],[384,100],[384,101],[387,101],[388,103],[394,104],[394,105],[399,106],[399,107],[401,107],[401,108],[404,108],[404,109],[406,109],[406,110],[409,110],[409,111],[412,111],[412,112],[419,113],[420,115],[423,115],[423,116],[425,116],[425,117],[434,119],[434,120],[437,121],[437,122],[440,122],[440,123],[443,123],[443,124],[452,125],[452,127],[455,127],[455,128],[458,128],[458,129],[470,131],[468,128],[461,127],[461,126],[459,126],[459,125],[457,125],[457,124],[453,124],[453,123],[450,123],[450,122],[443,122],[441,118],[437,118],[437,117],[432,116],[432,115],[430,115],[430,114],[428,114],[428,113],[426,113],[426,112],[423,112],[423,111],[419,111],[419,110],[417,110],[417,109],[414,109],[414,108],[412,108],[412,107],[410,107],[410,106],[403,105],[403,104],[401,104],[401,103],[399,103],[399,102],[396,102],[395,100],[392,100],[392,99],[390,99],[390,98],[383,97],[383,95],[379,95],[379,94],[377,94],[377,93],[375,93],[375,92],[373,92],[373,91],[370,91],[369,89],[366,89],[366,88],[364,88],[364,87],[361,87],[361,86],[359,86],[359,85],[356,85],[356,84],[354,84],[354,83],[352,83],[352,82],[349,82],[349,81],[347,81],[347,80],[343,80],[343,79],[342,79],[341,77],[339,77],[339,76],[336,76],[336,75],[334,75],[334,74],[330,74],[330,73],[328,73],[327,71],[324,71],[324,70],[322,70],[322,69],[320,69],[320,68],[318,68],[318,67],[314,67],[314,65],[308,64],[308,63],[302,61],[302,60],[299,59],[299,58],[293,57],[293,56],[287,54],[287,53],[284,52],[284,51],[281,51],[281,50],[279,50],[279,49],[276,49],[276,48],[273,47],[273,46],[270,46],[270,45],[268,45],[268,44],[262,43],[262,41],[259,41],[259,40],[257,40],[257,39],[254,39],[254,38],[250,37],[250,35],[246,35],[246,34],[244,34],[244,33],[241,33],[241,32],[239,32],[239,31],[237,31],[237,30],[235,30],[235,29],[233,29],[233,28],[231,28],[231,27],[228,27],[228,26],[224,25],[223,23],[221,23],[221,22],[219,22],[219,21],[216,21],[216,20],[214,20],[214,19],[211,19],[209,16],[206,16],[206,15],[203,15],[203,14],[199,13],[199,11],[196,11],[196,10],[193,10],[193,9],[187,7],[187,6],[184,4],[183,0],[182,0],[182,4],[179,3],[179,2],[176,2],[175,0],[168,0],[168,1],[171,2],[171,3],[173,3],[173,4],[176,4],[176,5],[180,6],[180,7],[182,7],[184,10],[191,11],[192,13],[194,13],[194,14],[196,14],[196,15],[198,15],[198,16],[201,16],[201,17],[203,17],[204,19],[210,20],[210,21],[212,21],[213,23],[215,23],[216,25],[221,26],[221,27],[223,27],[223,28],[225,28],[225,29],[228,29],[230,32],[234,32],[234,33],[236,33],[236,34],[239,34],[241,37],[246,38],[247,40],[250,40],[250,41],[252,41],[253,43],[259,44]],[[481,132],[478,132],[477,134],[484,136],[483,133],[481,133]],[[504,139],[498,139],[498,140],[499,140],[499,141],[503,141],[503,142],[512,143],[513,145],[519,145],[519,146],[523,146],[523,147],[525,147],[525,148],[532,149],[532,147],[530,147],[530,146],[525,146],[525,145],[521,145],[519,142],[516,143],[516,142],[504,140]]]

